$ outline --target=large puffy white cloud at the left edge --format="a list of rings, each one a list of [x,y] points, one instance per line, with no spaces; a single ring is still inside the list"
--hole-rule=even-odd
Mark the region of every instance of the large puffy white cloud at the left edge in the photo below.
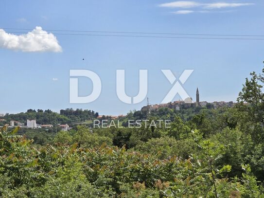
[[[62,52],[57,38],[41,27],[23,35],[6,33],[0,29],[0,48],[22,52]]]

